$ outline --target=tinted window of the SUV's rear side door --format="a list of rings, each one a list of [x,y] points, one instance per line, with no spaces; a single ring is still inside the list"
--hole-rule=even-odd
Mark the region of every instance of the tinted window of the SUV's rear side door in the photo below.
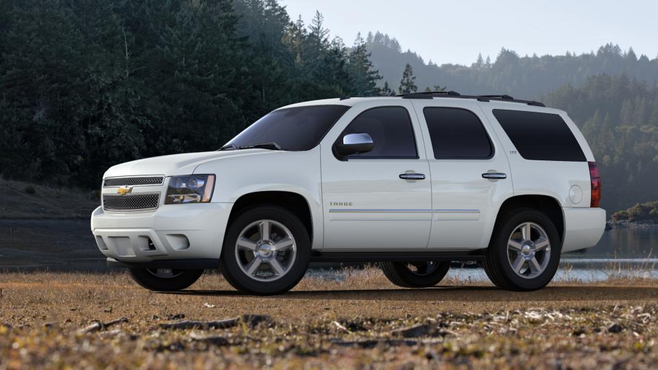
[[[470,110],[428,107],[423,110],[434,158],[491,158],[493,148],[482,122]]]

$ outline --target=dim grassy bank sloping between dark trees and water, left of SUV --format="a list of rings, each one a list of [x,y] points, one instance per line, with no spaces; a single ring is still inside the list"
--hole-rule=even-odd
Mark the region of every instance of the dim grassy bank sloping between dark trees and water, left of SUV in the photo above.
[[[34,188],[29,194],[26,188]],[[78,188],[49,188],[0,179],[0,219],[79,219],[99,206]]]

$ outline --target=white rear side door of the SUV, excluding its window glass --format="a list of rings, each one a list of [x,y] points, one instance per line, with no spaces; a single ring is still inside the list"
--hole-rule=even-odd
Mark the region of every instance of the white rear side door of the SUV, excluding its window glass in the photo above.
[[[478,101],[474,99],[415,99],[419,123],[423,127],[426,153],[432,175],[432,209],[435,212],[428,249],[468,250],[489,245],[496,215],[502,202],[513,196],[509,164],[498,138]],[[424,116],[424,108],[459,108],[478,116],[493,145],[490,159],[434,159],[434,149]],[[483,173],[498,172],[507,179],[487,180]]]

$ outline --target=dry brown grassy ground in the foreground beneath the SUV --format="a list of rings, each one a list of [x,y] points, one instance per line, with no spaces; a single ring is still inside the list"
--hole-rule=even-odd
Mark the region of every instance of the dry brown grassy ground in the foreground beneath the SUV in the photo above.
[[[394,288],[377,269],[305,278],[286,295],[236,293],[217,274],[151,293],[124,273],[0,274],[0,369],[650,368],[658,282],[555,284],[533,293],[481,285]],[[160,323],[267,314],[252,328]],[[106,330],[95,321],[125,317]],[[2,324],[5,325],[2,325]],[[421,325],[406,336],[395,330]]]

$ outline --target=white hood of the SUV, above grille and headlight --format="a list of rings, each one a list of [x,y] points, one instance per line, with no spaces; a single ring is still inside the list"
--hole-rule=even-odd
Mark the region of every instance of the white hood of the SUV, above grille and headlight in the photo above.
[[[105,177],[117,176],[141,176],[141,175],[190,175],[199,164],[212,162],[214,160],[223,160],[241,156],[258,156],[282,153],[268,149],[241,149],[226,151],[204,151],[201,153],[184,153],[173,154],[171,156],[161,156],[133,160],[110,167],[106,171]]]

